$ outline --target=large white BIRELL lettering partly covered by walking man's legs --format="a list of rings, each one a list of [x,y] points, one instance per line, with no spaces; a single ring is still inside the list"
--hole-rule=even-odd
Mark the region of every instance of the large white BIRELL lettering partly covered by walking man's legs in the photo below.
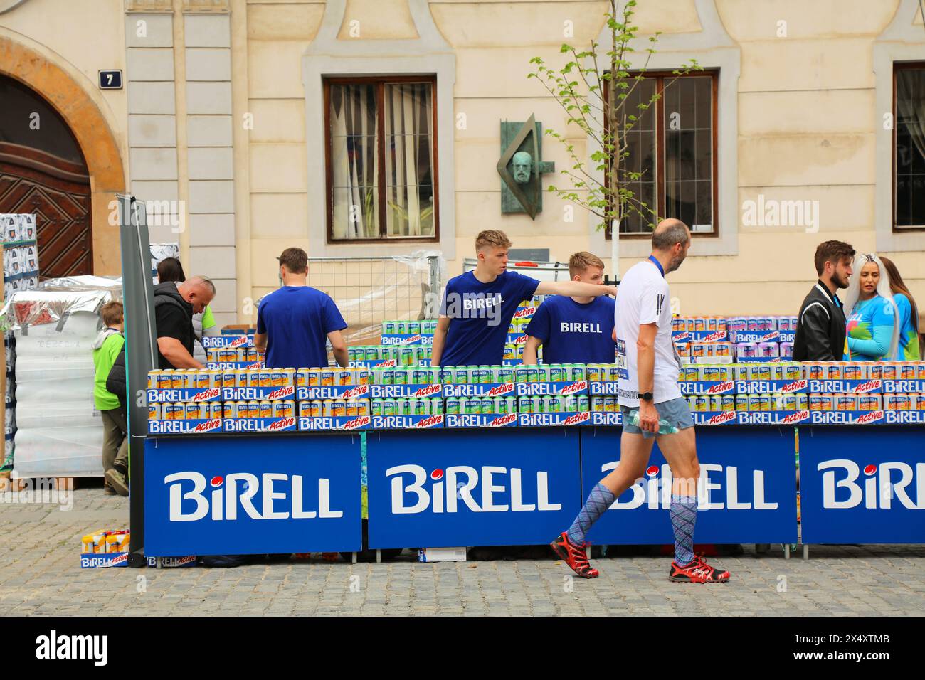
[[[619,462],[603,464],[600,471],[609,473],[618,465]],[[777,510],[777,502],[765,499],[764,470],[752,470],[751,476],[752,497],[740,498],[738,467],[701,463],[697,479],[697,510]],[[629,488],[633,491],[633,498],[628,501],[617,499],[610,509],[635,510],[646,504],[649,510],[667,510],[672,501],[672,468],[668,464],[661,467],[649,465],[646,477],[636,479],[635,484]],[[722,490],[726,492],[724,502],[716,500],[713,495]]]

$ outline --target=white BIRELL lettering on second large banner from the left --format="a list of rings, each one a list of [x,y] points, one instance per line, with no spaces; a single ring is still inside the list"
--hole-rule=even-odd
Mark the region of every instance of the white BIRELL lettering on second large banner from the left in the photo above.
[[[412,476],[408,479],[407,475]],[[480,470],[468,465],[436,469],[429,475],[420,465],[396,465],[386,470],[392,477],[392,513],[456,513],[464,505],[473,513],[527,513],[558,511],[561,503],[549,502],[549,473],[537,472],[536,481],[528,479],[524,498],[524,471],[520,468],[483,465]],[[536,488],[536,495],[531,493]],[[447,490],[450,492],[447,493]],[[510,491],[509,503],[496,502]],[[411,499],[408,499],[411,496]],[[476,498],[477,497],[477,498]],[[412,504],[406,504],[413,501]],[[529,502],[528,502],[529,501]]]

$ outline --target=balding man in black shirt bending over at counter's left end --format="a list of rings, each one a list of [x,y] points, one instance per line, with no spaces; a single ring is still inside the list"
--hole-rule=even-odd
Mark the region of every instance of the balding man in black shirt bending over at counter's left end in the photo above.
[[[187,278],[182,283],[167,281],[154,286],[154,328],[159,368],[203,368],[192,358],[192,343],[196,338],[192,315],[202,312],[215,296],[215,284],[203,276]]]

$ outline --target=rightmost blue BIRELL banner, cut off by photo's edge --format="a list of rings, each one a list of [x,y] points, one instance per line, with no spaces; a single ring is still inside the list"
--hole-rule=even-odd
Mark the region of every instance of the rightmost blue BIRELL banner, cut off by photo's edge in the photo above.
[[[925,543],[921,426],[800,427],[803,542]]]

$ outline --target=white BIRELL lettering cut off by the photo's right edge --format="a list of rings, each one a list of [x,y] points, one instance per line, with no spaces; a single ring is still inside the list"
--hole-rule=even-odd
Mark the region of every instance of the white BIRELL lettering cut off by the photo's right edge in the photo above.
[[[845,458],[823,461],[817,469],[822,473],[823,508],[856,508],[863,502],[870,510],[889,510],[895,500],[907,510],[925,510],[925,463],[917,463],[914,471],[907,463],[865,465],[863,482],[860,465]],[[915,501],[907,490],[913,486]]]

